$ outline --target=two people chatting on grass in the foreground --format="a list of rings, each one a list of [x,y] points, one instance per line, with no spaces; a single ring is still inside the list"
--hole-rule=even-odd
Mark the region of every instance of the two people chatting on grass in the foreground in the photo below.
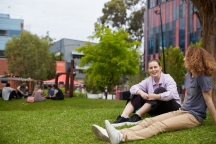
[[[212,100],[211,76],[216,71],[214,58],[203,48],[190,46],[184,58],[187,69],[183,104],[177,92],[176,82],[162,72],[157,59],[148,63],[150,76],[130,88],[131,97],[121,115],[105,129],[93,124],[92,131],[99,139],[118,144],[143,140],[159,133],[192,128],[202,124],[207,108],[216,124],[216,110]],[[130,114],[134,113],[131,117]],[[141,120],[143,114],[151,118]],[[136,124],[117,130],[115,127]]]

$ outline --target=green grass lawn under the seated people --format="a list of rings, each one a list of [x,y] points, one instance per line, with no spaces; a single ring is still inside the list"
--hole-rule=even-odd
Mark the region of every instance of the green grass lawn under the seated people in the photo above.
[[[91,125],[104,127],[104,120],[114,121],[124,106],[123,100],[79,97],[37,103],[0,99],[0,144],[103,144]],[[215,144],[216,125],[208,114],[202,126],[128,143]]]

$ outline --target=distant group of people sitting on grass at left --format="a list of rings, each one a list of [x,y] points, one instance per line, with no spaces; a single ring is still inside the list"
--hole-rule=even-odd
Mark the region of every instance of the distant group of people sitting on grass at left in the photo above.
[[[19,99],[19,98],[32,98],[32,102],[40,102],[44,101],[45,99],[52,99],[52,100],[63,100],[64,95],[57,87],[57,85],[48,85],[47,86],[48,92],[44,94],[44,85],[42,81],[37,81],[34,91],[32,95],[29,96],[28,94],[28,87],[26,83],[22,83],[17,89],[13,89],[10,87],[10,84],[7,83],[6,86],[2,89],[2,98],[4,100],[11,100],[12,98]]]

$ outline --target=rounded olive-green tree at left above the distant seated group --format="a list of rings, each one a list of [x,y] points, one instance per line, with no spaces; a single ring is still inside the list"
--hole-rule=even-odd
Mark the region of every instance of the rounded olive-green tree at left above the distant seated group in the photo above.
[[[21,77],[47,79],[47,68],[52,60],[48,42],[44,39],[22,31],[20,36],[13,36],[6,43],[4,54],[11,73]]]

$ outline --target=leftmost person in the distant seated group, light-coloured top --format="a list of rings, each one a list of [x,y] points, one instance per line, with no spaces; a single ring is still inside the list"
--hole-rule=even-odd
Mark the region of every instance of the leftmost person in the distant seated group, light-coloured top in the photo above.
[[[11,100],[11,98],[17,98],[16,90],[11,88],[9,83],[7,83],[6,86],[2,89],[2,98],[4,100]]]

